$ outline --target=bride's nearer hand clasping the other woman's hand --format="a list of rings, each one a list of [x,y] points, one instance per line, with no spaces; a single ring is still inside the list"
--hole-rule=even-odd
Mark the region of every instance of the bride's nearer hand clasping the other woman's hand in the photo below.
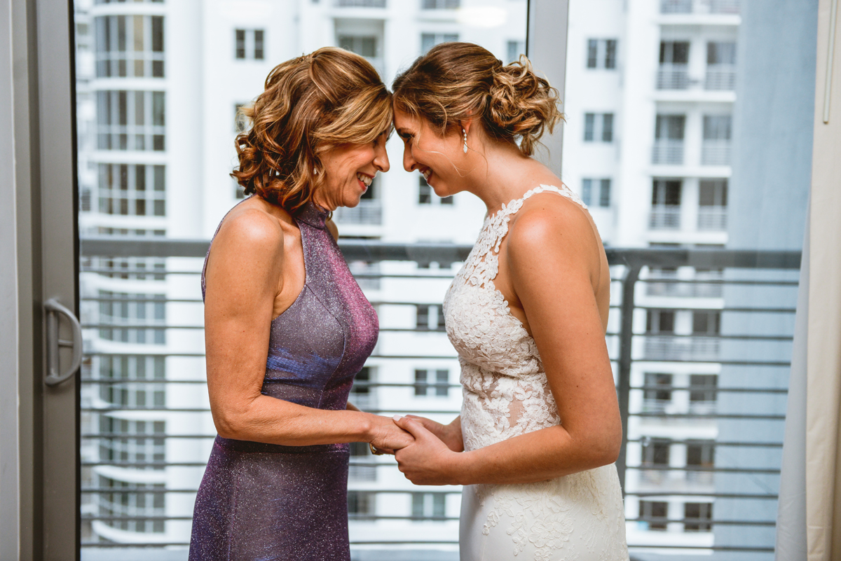
[[[415,442],[394,454],[399,470],[415,485],[458,485],[459,460],[462,454],[410,417],[394,416],[398,427],[415,437]]]

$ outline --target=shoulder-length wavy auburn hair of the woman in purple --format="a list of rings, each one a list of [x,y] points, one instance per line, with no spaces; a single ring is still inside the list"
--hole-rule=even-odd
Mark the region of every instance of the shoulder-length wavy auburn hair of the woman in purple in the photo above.
[[[241,113],[251,128],[236,137],[240,165],[230,175],[294,213],[324,177],[319,156],[340,144],[367,144],[389,129],[391,94],[373,66],[325,47],[275,66],[266,89]]]

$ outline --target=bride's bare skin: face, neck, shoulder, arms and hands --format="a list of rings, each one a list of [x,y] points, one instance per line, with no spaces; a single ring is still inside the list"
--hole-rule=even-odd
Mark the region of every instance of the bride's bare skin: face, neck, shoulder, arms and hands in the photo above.
[[[533,187],[562,185],[515,144],[489,138],[479,121],[460,124],[441,135],[395,110],[404,168],[425,173],[439,197],[468,191],[493,214]],[[495,286],[537,343],[562,425],[463,452],[460,418],[442,425],[395,417],[415,437],[396,453],[415,484],[531,483],[611,464],[619,454],[621,418],[605,343],[610,272],[589,212],[555,193],[529,198],[511,217],[499,265]]]

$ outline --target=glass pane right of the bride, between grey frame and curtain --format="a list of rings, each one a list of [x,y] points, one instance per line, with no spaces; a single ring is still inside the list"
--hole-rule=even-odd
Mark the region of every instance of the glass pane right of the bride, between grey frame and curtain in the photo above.
[[[629,388],[618,467],[632,558],[774,558],[814,99],[814,9],[795,19],[761,0],[569,3],[563,180],[616,255],[607,340]],[[594,140],[608,113],[606,146]],[[645,312],[621,301],[630,249]]]

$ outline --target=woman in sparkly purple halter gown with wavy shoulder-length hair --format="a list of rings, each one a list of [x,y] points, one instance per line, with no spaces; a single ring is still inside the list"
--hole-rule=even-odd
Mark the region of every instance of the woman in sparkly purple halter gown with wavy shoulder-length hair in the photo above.
[[[219,436],[189,558],[346,560],[347,443],[412,442],[347,403],[378,322],[329,219],[389,170],[391,99],[366,60],[325,48],[272,70],[246,116],[232,175],[253,196],[223,219],[202,278]]]

